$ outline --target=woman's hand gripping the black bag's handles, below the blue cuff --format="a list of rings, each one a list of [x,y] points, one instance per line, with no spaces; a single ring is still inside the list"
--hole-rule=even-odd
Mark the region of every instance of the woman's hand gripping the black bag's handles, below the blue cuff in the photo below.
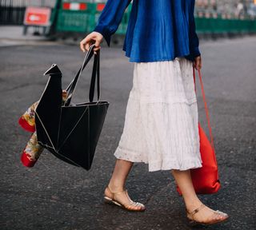
[[[101,49],[101,46],[99,45],[101,44],[102,40],[102,34],[98,32],[92,32],[88,34],[86,38],[82,39],[82,41],[80,42],[80,49],[82,50],[82,52],[86,52],[86,50],[88,51],[90,46],[95,43],[94,54],[96,54],[96,51]]]

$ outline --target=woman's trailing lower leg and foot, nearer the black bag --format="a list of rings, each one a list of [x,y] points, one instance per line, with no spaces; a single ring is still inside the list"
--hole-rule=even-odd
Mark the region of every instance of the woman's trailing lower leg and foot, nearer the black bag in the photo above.
[[[105,189],[105,196],[112,197],[112,199],[117,200],[129,210],[144,211],[145,206],[143,204],[134,202],[130,199],[128,193],[123,192],[125,190],[127,176],[133,165],[134,163],[131,161],[117,159],[114,172],[112,173],[108,187]]]

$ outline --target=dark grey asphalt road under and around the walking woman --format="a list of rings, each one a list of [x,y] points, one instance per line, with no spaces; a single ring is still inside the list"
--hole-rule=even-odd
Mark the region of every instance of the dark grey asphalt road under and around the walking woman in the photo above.
[[[230,215],[228,222],[207,229],[253,230],[256,226],[256,39],[202,42],[201,50],[202,77],[222,188],[217,194],[200,198],[211,208]],[[42,74],[56,63],[62,70],[65,87],[78,71],[83,56],[78,46],[51,42],[0,47],[0,228],[190,229],[170,172],[148,172],[143,163],[134,165],[126,187],[134,200],[146,204],[146,212],[126,212],[103,202],[132,87],[133,64],[121,48],[102,48],[101,97],[110,102],[110,107],[92,169],[86,172],[67,165],[47,151],[34,168],[27,169],[21,164],[20,155],[30,133],[18,126],[18,118],[41,96],[47,81]],[[75,102],[88,100],[89,78],[90,68],[79,81]],[[198,109],[199,121],[207,132],[200,90]]]

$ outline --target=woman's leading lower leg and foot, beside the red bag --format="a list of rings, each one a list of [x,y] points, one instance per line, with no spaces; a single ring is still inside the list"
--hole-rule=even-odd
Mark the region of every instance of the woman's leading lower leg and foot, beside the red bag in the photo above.
[[[198,199],[198,196],[194,191],[190,169],[184,171],[173,169],[171,172],[178,184],[178,187],[182,191],[187,211],[192,212],[195,208],[200,207],[200,205],[202,205],[202,201]],[[197,212],[193,216],[194,220],[205,223],[213,222],[214,220],[224,220],[226,217],[227,215],[214,215],[214,210],[209,207],[203,208],[203,212]]]

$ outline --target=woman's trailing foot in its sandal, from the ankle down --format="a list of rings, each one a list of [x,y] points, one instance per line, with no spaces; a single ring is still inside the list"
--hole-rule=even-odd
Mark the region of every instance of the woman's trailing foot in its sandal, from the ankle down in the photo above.
[[[131,200],[127,190],[118,189],[118,191],[112,191],[109,186],[106,187],[105,199],[130,211],[144,211],[146,209],[143,204]]]

